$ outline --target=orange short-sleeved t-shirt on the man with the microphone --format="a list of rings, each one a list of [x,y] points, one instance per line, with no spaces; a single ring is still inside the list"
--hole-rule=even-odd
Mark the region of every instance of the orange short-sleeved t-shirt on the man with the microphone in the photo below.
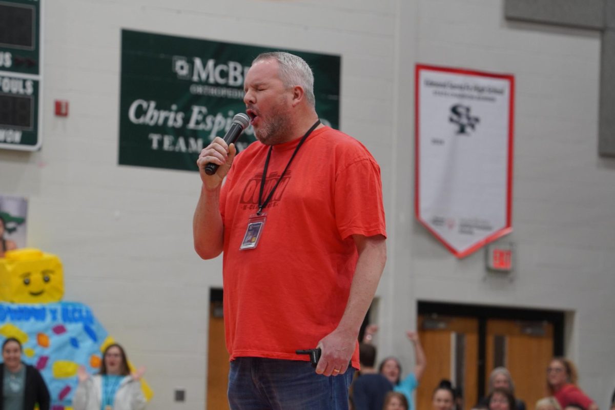
[[[299,141],[273,146],[263,200]],[[226,347],[231,360],[309,360],[295,350],[315,348],[346,308],[358,257],[351,235],[386,236],[380,168],[354,138],[315,130],[264,210],[258,246],[239,250],[268,149],[256,141],[241,152],[221,191]]]

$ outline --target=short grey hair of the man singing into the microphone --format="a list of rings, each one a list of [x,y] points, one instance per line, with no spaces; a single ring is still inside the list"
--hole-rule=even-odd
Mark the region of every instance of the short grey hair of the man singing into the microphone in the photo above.
[[[276,60],[279,64],[280,80],[282,80],[284,86],[295,87],[295,85],[301,85],[308,103],[312,108],[316,106],[314,73],[312,73],[312,69],[303,58],[287,52],[274,51],[259,54],[252,61],[252,65],[261,60]]]

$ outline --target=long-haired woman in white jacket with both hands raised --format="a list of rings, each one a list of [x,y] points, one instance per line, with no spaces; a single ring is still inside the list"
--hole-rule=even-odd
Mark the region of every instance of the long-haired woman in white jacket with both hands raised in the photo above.
[[[139,379],[144,368],[130,373],[124,349],[111,344],[105,349],[100,373],[90,376],[83,366],[73,397],[74,410],[143,410],[145,396]]]

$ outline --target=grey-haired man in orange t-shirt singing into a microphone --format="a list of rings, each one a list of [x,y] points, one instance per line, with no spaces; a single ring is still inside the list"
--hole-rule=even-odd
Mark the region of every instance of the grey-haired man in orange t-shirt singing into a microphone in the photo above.
[[[320,124],[313,84],[300,57],[256,57],[244,102],[258,141],[236,157],[218,137],[197,160],[194,247],[204,259],[223,253],[233,410],[347,409],[359,328],[386,261],[378,164]],[[314,348],[315,371],[295,352]]]

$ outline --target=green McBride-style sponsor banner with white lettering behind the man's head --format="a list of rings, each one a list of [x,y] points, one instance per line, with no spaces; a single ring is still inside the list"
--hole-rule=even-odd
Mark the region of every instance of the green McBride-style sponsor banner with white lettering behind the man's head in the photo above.
[[[196,171],[201,149],[245,112],[244,77],[252,60],[276,50],[122,30],[119,164]],[[340,57],[282,51],[312,67],[317,112],[338,128]],[[237,148],[254,140],[248,127]]]

